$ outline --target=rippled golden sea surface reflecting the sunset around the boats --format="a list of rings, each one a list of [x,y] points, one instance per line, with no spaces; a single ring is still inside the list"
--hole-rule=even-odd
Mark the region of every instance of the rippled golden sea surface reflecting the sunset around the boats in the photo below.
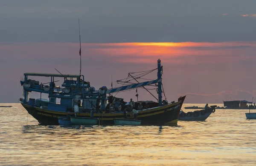
[[[204,124],[160,129],[40,126],[21,104],[0,105],[13,106],[0,107],[1,166],[256,166],[256,120],[245,118],[248,110],[216,110]]]

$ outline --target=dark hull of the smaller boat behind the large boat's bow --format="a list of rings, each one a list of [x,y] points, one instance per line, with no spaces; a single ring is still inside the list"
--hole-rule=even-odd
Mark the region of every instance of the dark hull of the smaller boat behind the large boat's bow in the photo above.
[[[213,110],[214,108],[209,108],[207,110],[200,110],[200,111],[197,111],[198,114],[193,112],[191,116],[188,116],[188,114],[185,113],[185,116],[180,115],[179,121],[205,121],[209,117],[209,115],[212,114]]]

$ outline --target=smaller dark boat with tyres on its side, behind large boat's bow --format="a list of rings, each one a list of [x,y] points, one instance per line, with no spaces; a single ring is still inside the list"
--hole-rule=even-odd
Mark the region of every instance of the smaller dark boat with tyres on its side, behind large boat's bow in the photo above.
[[[209,115],[215,113],[215,107],[217,106],[214,105],[204,110],[197,110],[188,113],[180,111],[179,121],[205,121]]]

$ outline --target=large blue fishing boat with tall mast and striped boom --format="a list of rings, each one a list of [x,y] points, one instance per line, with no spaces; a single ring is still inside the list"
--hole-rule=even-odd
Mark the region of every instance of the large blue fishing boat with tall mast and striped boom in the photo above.
[[[157,102],[155,102],[154,106],[138,110],[138,120],[143,125],[177,125],[180,108],[186,96],[182,96],[177,101],[172,101],[171,103],[163,102],[161,78],[163,66],[161,66],[160,59],[158,59],[157,68],[154,70],[157,70],[157,79],[138,83],[126,81],[125,86],[115,88],[102,86],[99,90],[90,86],[90,82],[86,82],[81,74],[24,73],[24,80],[20,81],[21,86],[23,86],[24,98],[20,98],[20,102],[27,112],[42,125],[58,125],[58,118],[67,116],[67,114],[71,117],[90,118],[92,117],[91,112],[93,112],[93,118],[99,118],[100,124],[111,125],[114,124],[114,118],[123,118],[122,110],[109,112],[106,109],[109,104],[115,102],[113,94],[137,89],[138,87],[145,88],[145,86],[151,85],[156,86],[158,93]],[[131,73],[129,75],[129,78],[134,78],[137,81]],[[34,78],[35,76],[48,77],[50,80],[48,83],[39,84],[39,81],[29,79],[30,76]],[[56,78],[64,79],[61,86],[55,85],[55,82],[57,82]],[[45,93],[49,98],[29,98],[29,93],[31,92]],[[60,99],[60,103],[56,102],[57,98]],[[127,117],[128,119],[134,118],[132,112],[128,112]]]

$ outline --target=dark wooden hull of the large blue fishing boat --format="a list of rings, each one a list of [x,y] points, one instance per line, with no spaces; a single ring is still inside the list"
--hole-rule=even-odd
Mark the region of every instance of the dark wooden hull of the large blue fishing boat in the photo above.
[[[154,107],[147,110],[140,110],[138,120],[142,125],[168,125],[176,126],[179,118],[180,108],[186,96],[179,98],[178,101],[161,107]],[[67,116],[67,112],[45,110],[23,104],[23,107],[42,125],[58,125],[58,117]],[[75,113],[69,113],[75,116]],[[77,117],[90,118],[90,113],[76,113]],[[123,113],[94,113],[94,118],[99,118],[100,125],[113,125],[113,118],[123,118]],[[128,119],[133,119],[131,112],[127,113]]]

